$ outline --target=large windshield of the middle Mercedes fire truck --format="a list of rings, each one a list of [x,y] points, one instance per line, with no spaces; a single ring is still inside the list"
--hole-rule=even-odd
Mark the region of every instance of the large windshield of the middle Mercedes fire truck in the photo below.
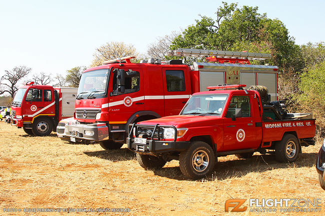
[[[106,95],[108,69],[93,70],[82,73],[77,100],[90,99],[90,98],[102,98]]]

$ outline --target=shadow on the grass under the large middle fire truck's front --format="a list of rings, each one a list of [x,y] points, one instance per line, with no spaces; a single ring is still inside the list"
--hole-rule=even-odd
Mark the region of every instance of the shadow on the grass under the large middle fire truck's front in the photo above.
[[[128,150],[127,148],[102,150],[96,152],[83,152],[83,154],[108,161],[129,161],[135,159],[134,152]]]

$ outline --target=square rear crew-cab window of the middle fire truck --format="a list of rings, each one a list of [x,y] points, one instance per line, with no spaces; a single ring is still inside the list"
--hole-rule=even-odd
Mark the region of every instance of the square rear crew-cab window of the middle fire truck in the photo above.
[[[166,70],[167,91],[185,91],[184,71]]]

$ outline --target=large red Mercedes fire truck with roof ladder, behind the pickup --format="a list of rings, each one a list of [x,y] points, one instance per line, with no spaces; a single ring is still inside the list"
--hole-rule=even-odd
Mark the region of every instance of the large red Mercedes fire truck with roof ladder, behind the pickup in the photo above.
[[[206,57],[210,62],[183,64],[133,56],[110,60],[82,73],[75,101],[75,122],[61,122],[57,135],[72,142],[99,142],[120,148],[129,124],[176,115],[191,94],[216,84],[264,85],[277,98],[277,66],[252,65],[249,60],[270,54],[202,49],[177,49],[172,56]]]

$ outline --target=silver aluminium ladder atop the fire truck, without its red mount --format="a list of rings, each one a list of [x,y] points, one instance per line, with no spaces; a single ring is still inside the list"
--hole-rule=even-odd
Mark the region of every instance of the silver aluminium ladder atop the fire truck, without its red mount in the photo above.
[[[271,54],[268,53],[235,52],[235,51],[221,51],[221,50],[211,50],[211,49],[185,49],[185,48],[170,50],[167,53],[167,55],[189,56],[189,57],[216,56],[218,58],[246,58],[249,60],[265,60],[271,58]]]

